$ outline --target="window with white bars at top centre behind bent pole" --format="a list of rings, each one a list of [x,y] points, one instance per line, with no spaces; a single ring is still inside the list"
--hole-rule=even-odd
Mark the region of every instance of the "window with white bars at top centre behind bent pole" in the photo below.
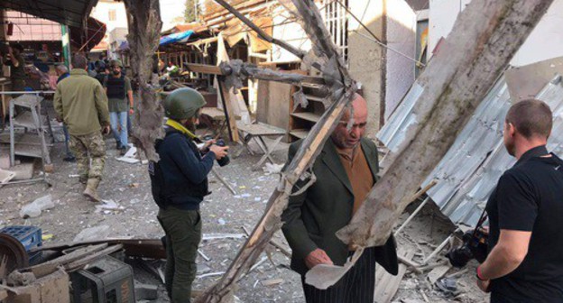
[[[348,0],[340,1],[348,7]],[[325,25],[332,36],[332,41],[342,55],[342,59],[348,63],[348,18],[346,8],[338,1],[324,1],[321,14],[325,19]]]

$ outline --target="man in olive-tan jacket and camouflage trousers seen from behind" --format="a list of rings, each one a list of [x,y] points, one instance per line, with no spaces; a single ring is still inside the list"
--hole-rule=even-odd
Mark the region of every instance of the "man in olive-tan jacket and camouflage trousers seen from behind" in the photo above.
[[[109,133],[107,96],[99,81],[88,76],[88,60],[84,56],[75,55],[72,68],[70,76],[57,85],[55,111],[69,129],[70,149],[77,158],[79,179],[86,184],[83,194],[99,202],[97,186],[106,161],[102,134]]]

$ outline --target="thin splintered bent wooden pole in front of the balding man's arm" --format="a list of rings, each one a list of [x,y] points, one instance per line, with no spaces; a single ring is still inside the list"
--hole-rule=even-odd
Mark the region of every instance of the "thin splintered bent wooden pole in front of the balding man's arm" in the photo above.
[[[349,78],[344,65],[339,60],[339,56],[335,56],[335,54],[338,54],[337,49],[330,40],[330,35],[321,21],[313,0],[295,0],[294,3],[297,3],[296,6],[300,14],[303,15],[302,22],[309,39],[311,41],[327,40],[313,44],[315,47],[319,47],[316,50],[318,57],[324,56],[325,61],[330,62],[327,66],[322,67],[322,72],[323,77],[329,79],[331,83],[330,99],[332,104],[328,106],[324,115],[311,129],[309,136],[302,142],[299,151],[285,170],[281,184],[274,189],[262,218],[237,254],[235,261],[231,263],[229,269],[221,280],[217,281],[217,284],[197,298],[196,302],[199,303],[230,301],[237,280],[252,267],[268,245],[272,235],[280,229],[281,213],[287,207],[293,184],[313,164],[356,90],[355,82]]]

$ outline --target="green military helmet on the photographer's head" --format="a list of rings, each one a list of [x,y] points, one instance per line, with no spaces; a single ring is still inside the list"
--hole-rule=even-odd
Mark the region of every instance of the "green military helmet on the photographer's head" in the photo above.
[[[178,88],[164,99],[164,114],[180,121],[196,117],[198,109],[205,105],[205,99],[197,90],[189,87]]]

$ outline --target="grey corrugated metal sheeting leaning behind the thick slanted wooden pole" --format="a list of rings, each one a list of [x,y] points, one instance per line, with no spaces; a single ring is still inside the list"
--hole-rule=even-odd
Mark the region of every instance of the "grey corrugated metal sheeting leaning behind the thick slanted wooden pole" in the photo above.
[[[544,87],[537,97],[554,113],[548,149],[563,154],[563,87],[560,78]],[[378,134],[383,143],[390,144],[391,151],[404,139],[400,127],[406,128],[415,121],[411,119],[414,115],[411,102],[405,98],[404,107],[410,110],[401,108],[405,112],[395,113],[389,128],[383,128]],[[423,184],[438,179],[438,184],[429,190],[429,197],[457,225],[476,224],[498,179],[515,162],[503,145],[504,116],[510,106],[508,87],[504,78],[500,78]]]

